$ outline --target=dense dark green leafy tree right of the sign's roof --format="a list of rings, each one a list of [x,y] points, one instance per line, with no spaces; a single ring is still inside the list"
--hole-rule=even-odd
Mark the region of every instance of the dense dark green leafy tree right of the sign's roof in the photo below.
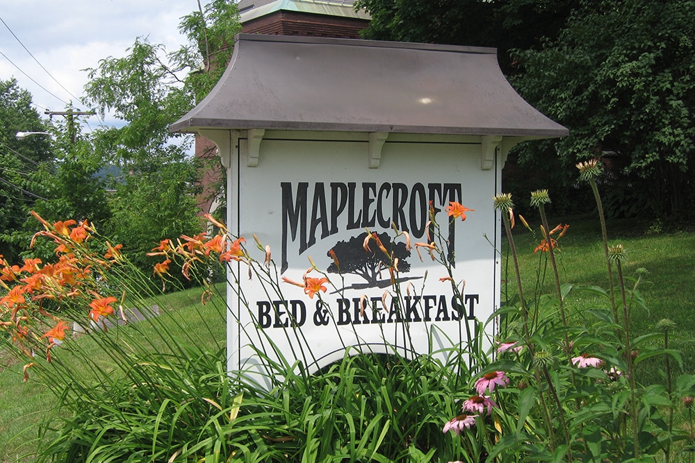
[[[692,211],[693,17],[690,0],[586,1],[557,40],[516,52],[513,85],[570,129],[541,149],[557,152],[567,169],[585,158],[610,160],[614,214]],[[527,144],[518,155],[530,162],[538,152]]]

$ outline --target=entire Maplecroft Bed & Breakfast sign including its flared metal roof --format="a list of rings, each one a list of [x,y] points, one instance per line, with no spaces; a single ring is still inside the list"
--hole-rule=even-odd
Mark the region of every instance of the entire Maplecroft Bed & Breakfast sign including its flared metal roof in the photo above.
[[[272,290],[235,263],[227,297],[229,368],[260,378],[259,351],[316,371],[468,348],[500,304],[507,152],[566,134],[491,49],[244,35],[172,130],[215,142],[229,230],[272,251]]]

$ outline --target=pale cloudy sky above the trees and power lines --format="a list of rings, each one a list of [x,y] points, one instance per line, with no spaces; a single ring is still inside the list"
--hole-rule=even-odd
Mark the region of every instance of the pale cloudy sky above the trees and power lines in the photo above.
[[[16,78],[42,117],[71,101],[89,110],[78,101],[88,81],[82,69],[126,56],[137,37],[178,49],[186,42],[180,19],[197,9],[197,0],[0,0],[0,79]],[[100,124],[81,120],[85,131]],[[105,123],[120,125],[108,115]]]

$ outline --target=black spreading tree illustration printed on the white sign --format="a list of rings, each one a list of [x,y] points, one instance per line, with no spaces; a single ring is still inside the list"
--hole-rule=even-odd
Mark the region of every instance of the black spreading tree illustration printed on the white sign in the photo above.
[[[398,272],[405,273],[410,271],[410,264],[407,258],[410,257],[410,251],[403,242],[392,242],[388,233],[377,233],[384,248],[391,253],[391,257],[398,259]],[[367,237],[367,233],[350,238],[347,242],[339,241],[331,249],[335,253],[336,260],[340,269],[333,262],[329,265],[328,273],[352,273],[364,278],[367,283],[363,285],[352,285],[358,287],[387,287],[391,284],[389,276],[389,258],[374,244],[370,242],[371,251],[366,251],[363,244]],[[327,253],[329,258],[332,258],[331,251]],[[380,271],[385,271],[385,278],[382,279],[379,275]]]

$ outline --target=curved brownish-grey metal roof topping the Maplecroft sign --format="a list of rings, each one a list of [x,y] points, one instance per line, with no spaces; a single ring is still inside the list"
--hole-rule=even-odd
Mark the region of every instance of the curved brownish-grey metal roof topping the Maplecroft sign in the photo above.
[[[514,91],[495,49],[251,34],[170,129],[200,128],[568,134]]]

